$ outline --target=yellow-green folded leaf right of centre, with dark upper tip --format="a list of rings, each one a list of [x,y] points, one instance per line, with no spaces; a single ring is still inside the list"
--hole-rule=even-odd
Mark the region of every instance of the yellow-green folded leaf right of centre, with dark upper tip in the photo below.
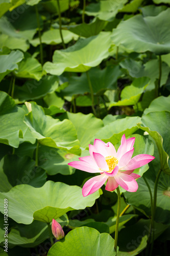
[[[121,94],[118,102],[111,102],[111,106],[124,106],[124,105],[136,105],[140,99],[141,94],[148,86],[150,79],[148,77],[136,78],[133,80],[130,86],[126,86]]]

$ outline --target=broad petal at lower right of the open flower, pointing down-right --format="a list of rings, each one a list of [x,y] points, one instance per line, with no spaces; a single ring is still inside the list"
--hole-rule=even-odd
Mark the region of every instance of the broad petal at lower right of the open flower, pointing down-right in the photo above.
[[[114,178],[121,187],[129,192],[136,192],[138,189],[138,184],[131,175],[118,172]]]

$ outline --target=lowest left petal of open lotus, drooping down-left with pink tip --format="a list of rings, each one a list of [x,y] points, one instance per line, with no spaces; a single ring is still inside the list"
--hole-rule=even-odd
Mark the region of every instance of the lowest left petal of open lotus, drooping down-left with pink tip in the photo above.
[[[101,174],[86,181],[82,188],[83,197],[91,195],[97,191],[101,186],[103,186],[107,179],[108,177],[105,174]]]

